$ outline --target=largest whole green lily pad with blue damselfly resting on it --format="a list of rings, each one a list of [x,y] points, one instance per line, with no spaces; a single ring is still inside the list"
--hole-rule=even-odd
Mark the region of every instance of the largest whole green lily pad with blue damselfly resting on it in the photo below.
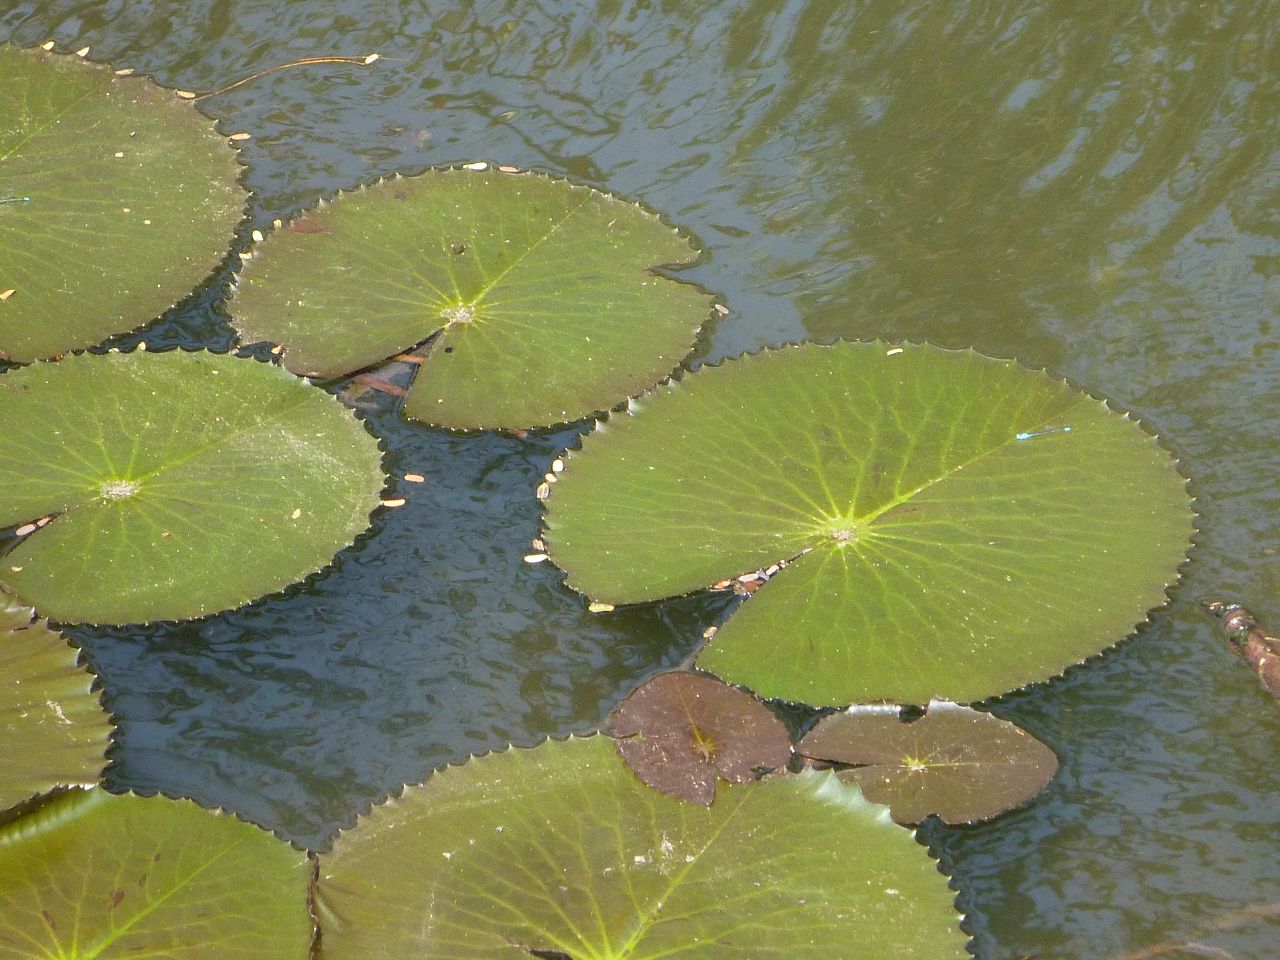
[[[699,655],[767,698],[966,701],[1044,680],[1165,602],[1193,529],[1149,434],[972,351],[787,347],[634,408],[567,457],[548,552],[603,603],[790,561]]]

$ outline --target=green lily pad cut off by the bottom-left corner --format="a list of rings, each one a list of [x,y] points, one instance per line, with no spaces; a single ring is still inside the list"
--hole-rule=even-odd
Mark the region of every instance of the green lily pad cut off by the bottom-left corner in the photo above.
[[[0,827],[0,960],[305,960],[311,861],[189,800],[54,796]]]

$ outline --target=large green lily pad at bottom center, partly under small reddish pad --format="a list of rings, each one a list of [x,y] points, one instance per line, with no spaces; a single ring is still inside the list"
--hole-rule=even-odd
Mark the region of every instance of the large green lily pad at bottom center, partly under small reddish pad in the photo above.
[[[605,737],[474,759],[320,856],[324,960],[966,957],[946,879],[831,773],[637,781]]]

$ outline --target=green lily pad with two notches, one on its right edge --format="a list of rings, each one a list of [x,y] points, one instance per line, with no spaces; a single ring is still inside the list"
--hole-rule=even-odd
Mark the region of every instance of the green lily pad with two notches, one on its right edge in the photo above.
[[[710,298],[652,268],[694,255],[653,214],[588,187],[433,170],[273,233],[232,319],[321,378],[436,334],[407,416],[462,430],[562,424],[650,387],[691,349]]]

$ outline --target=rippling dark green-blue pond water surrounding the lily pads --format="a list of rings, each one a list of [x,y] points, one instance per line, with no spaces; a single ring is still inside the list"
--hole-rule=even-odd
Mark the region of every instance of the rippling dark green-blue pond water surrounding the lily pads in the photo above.
[[[252,133],[242,243],[394,170],[513,163],[699,238],[682,275],[731,314],[698,361],[929,339],[1133,411],[1193,481],[1184,580],[1135,637],[993,705],[1061,758],[1039,801],[922,837],[980,957],[1276,955],[1280,920],[1210,931],[1280,901],[1280,709],[1198,607],[1226,595],[1280,623],[1274,0],[0,0],[0,41],[49,38],[196,91],[381,55],[205,101]],[[228,347],[228,279],[147,344]],[[119,721],[113,788],[320,847],[439,764],[594,728],[723,614],[691,598],[593,616],[521,562],[536,477],[582,425],[453,436],[388,403],[369,422],[389,470],[428,483],[324,575],[207,622],[73,631]]]

